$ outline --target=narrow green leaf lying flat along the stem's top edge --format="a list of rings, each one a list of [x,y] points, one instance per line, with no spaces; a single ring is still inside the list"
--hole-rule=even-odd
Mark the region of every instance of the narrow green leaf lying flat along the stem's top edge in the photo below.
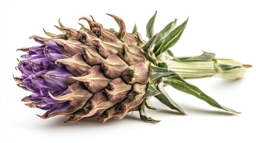
[[[211,52],[204,52],[201,55],[198,56],[190,56],[190,57],[174,57],[175,61],[180,61],[180,62],[184,62],[184,61],[211,61],[212,58],[215,57],[214,53]]]

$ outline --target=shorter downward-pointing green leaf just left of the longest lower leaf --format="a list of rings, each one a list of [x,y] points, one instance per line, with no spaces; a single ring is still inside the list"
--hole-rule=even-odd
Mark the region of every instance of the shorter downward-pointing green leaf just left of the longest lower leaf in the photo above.
[[[168,106],[168,107],[171,108],[171,109],[177,110],[177,111],[179,111],[179,112],[182,113],[182,114],[186,114],[186,113],[182,110],[182,108],[180,108],[180,106],[178,106],[178,104],[175,103],[175,102],[169,97],[169,95],[165,92],[162,83],[159,83],[158,89],[159,89],[159,91],[162,92],[161,95],[156,95],[156,96],[155,96],[159,101],[161,101],[163,104],[165,104],[166,106]]]

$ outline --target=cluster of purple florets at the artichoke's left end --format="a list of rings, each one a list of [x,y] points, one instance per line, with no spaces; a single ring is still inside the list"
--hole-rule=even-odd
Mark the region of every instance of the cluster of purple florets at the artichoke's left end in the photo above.
[[[24,97],[23,101],[30,102],[30,107],[47,110],[42,117],[48,117],[53,113],[72,108],[68,101],[58,101],[50,97],[68,94],[68,86],[75,82],[69,78],[74,76],[62,64],[55,64],[56,60],[69,58],[61,52],[55,42],[44,42],[34,38],[41,46],[23,48],[20,51],[27,52],[22,55],[24,60],[19,61],[17,69],[21,71],[21,77],[14,77],[18,86],[33,94]]]

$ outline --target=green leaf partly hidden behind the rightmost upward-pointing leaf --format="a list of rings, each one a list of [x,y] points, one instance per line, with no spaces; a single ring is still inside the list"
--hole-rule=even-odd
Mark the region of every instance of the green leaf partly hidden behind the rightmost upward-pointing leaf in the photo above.
[[[156,38],[156,42],[155,42],[156,44],[159,41],[163,41],[166,38],[166,36],[168,36],[169,33],[171,33],[171,31],[176,26],[176,22],[177,22],[177,19],[169,23],[167,26],[164,27],[164,29],[161,30],[161,32],[159,32],[158,38]]]

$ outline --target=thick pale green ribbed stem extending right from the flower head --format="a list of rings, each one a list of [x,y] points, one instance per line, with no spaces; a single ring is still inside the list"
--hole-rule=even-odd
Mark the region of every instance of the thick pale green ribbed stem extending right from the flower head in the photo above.
[[[160,62],[165,62],[168,69],[177,72],[184,79],[196,79],[202,77],[220,76],[227,79],[239,79],[246,72],[246,67],[238,61],[230,59],[214,58],[210,61],[175,61],[169,55],[162,54],[158,58]]]

